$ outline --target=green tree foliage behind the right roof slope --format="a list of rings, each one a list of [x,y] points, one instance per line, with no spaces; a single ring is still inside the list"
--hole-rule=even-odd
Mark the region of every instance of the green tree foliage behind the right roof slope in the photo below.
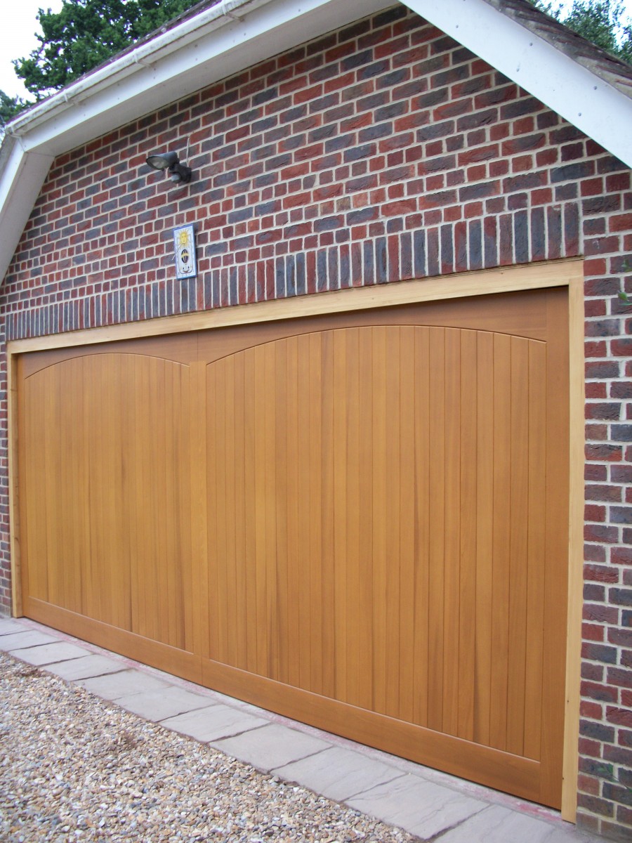
[[[560,3],[531,2],[602,50],[632,64],[632,21],[626,18],[620,0],[573,0],[566,11]]]

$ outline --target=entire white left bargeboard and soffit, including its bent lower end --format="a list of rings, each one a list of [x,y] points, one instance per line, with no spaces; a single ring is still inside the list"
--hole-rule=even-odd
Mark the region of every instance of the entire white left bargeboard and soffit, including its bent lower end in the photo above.
[[[202,24],[198,16],[185,21],[12,121],[13,137],[4,138],[0,151],[0,278],[56,155],[393,5],[393,0],[224,0],[199,16]]]

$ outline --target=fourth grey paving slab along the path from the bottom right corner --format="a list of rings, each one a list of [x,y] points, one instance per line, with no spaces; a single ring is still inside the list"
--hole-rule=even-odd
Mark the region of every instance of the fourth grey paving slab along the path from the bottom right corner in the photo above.
[[[245,761],[264,772],[275,770],[276,767],[297,761],[299,758],[306,758],[330,746],[324,740],[278,723],[252,729],[235,738],[210,743],[216,749],[221,749],[222,752],[233,755],[233,758]]]

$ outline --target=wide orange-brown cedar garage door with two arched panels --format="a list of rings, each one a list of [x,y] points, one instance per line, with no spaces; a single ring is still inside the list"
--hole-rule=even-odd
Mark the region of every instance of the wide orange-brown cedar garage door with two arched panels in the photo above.
[[[566,293],[19,358],[24,614],[560,805]]]

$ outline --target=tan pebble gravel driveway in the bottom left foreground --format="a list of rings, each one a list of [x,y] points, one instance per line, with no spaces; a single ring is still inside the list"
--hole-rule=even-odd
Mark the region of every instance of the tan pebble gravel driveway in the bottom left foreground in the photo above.
[[[0,654],[0,840],[412,843]]]

